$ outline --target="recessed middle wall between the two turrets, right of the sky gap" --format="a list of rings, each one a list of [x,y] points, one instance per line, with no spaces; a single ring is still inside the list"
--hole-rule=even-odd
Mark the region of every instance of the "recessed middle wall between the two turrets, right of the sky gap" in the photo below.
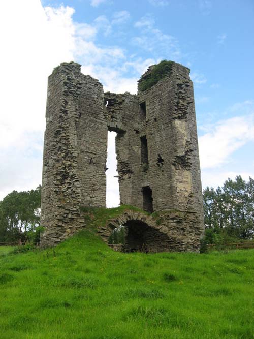
[[[138,98],[128,92],[107,92],[105,111],[109,131],[117,132],[116,158],[120,202],[124,205],[140,205],[141,188],[139,175],[140,141]]]

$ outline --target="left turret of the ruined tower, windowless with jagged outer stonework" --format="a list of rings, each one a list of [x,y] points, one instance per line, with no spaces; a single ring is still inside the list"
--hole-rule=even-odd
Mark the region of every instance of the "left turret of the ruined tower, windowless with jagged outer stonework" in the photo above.
[[[107,124],[103,87],[63,63],[48,79],[44,136],[41,244],[84,227],[80,206],[105,207]]]

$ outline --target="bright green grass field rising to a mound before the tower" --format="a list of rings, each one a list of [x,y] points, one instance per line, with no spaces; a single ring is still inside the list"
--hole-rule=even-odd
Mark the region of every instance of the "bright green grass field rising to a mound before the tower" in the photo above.
[[[1,339],[254,338],[254,250],[117,253],[87,230],[0,257]]]

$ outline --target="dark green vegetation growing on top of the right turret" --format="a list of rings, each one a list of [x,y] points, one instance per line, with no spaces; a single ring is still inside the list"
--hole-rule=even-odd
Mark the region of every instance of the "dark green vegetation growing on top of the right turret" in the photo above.
[[[159,80],[166,77],[170,73],[173,61],[162,60],[159,64],[154,65],[151,73],[142,79],[139,83],[139,90],[144,91],[151,88]]]

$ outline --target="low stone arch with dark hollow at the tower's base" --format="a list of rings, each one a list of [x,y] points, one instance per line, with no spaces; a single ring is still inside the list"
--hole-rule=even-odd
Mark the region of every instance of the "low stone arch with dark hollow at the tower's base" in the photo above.
[[[168,228],[157,225],[151,215],[142,212],[125,211],[117,217],[108,220],[105,226],[98,229],[99,235],[108,244],[112,231],[120,225],[126,226],[126,243],[123,252],[161,252],[169,251],[172,239],[169,237]]]

